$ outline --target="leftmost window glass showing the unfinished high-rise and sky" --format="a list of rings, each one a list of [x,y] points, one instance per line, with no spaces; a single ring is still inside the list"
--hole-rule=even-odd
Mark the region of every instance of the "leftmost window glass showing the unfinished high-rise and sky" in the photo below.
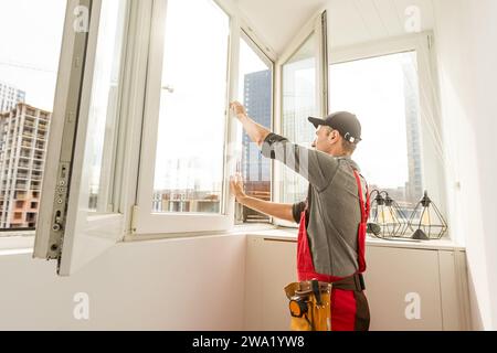
[[[0,236],[36,226],[65,10],[0,1]]]

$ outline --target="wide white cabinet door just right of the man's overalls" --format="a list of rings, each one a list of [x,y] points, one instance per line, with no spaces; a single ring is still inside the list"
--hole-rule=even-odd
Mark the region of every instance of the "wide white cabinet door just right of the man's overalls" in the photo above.
[[[371,329],[443,330],[438,252],[388,247],[368,250]]]

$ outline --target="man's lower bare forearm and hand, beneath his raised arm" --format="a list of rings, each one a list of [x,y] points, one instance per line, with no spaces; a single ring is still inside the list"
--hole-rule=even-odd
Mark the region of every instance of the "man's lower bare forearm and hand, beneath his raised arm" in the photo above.
[[[243,189],[241,176],[231,179],[231,192],[242,205],[275,218],[295,222],[293,205],[250,197],[245,194]]]

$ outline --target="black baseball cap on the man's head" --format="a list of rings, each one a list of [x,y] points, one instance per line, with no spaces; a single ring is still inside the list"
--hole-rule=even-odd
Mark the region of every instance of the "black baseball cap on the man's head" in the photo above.
[[[362,128],[359,119],[351,113],[338,111],[334,113],[325,119],[309,118],[309,121],[317,128],[328,126],[340,132],[341,137],[350,143],[359,143],[362,141]]]

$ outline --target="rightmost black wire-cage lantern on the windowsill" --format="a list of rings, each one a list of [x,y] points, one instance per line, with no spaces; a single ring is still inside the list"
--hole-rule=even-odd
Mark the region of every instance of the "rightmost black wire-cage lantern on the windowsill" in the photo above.
[[[412,239],[441,239],[447,229],[447,222],[425,192],[411,215],[404,236],[409,235],[408,232],[413,232]]]

